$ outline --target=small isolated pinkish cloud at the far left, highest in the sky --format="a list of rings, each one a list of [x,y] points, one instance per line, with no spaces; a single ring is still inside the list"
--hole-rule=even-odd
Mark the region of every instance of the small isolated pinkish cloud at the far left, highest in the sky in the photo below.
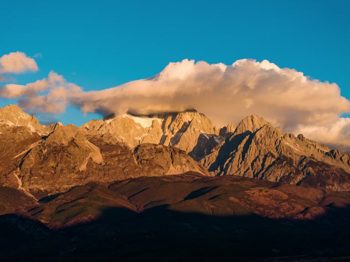
[[[13,52],[0,57],[0,74],[20,74],[26,71],[36,72],[38,66],[33,58],[22,52]]]

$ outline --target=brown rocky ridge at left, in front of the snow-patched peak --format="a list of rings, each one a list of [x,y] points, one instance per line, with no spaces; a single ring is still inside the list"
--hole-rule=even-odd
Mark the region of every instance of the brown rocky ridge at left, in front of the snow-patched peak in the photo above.
[[[118,142],[110,144],[103,137],[88,136],[73,125],[56,128],[27,149],[14,157],[20,160],[9,172],[17,180],[7,185],[20,184],[33,194],[43,190],[63,192],[90,181],[111,182],[188,171],[209,175],[180,149],[143,144],[132,150]]]

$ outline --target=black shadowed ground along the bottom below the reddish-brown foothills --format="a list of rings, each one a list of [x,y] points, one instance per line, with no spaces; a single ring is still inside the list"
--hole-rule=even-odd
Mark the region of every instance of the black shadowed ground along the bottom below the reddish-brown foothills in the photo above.
[[[311,221],[253,213],[209,216],[169,210],[166,204],[143,212],[105,208],[94,221],[56,230],[19,215],[3,215],[0,260],[261,261],[286,256],[264,261],[331,261],[348,256],[337,260],[348,261],[350,206],[329,207]]]

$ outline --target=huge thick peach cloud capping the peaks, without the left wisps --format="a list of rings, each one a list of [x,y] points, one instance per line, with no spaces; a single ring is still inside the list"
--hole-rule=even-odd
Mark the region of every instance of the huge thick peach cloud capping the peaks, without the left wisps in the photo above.
[[[182,66],[185,68],[182,68]],[[260,114],[283,128],[329,123],[350,111],[336,84],[309,80],[294,69],[268,61],[238,60],[232,65],[170,63],[156,77],[82,93],[84,112],[100,110],[147,114],[196,108],[218,125]]]

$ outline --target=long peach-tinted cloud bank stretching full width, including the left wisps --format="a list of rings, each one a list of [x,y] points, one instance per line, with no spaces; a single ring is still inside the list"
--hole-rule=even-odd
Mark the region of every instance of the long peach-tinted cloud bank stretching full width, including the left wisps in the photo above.
[[[249,114],[265,117],[285,132],[350,150],[350,102],[337,84],[310,79],[267,60],[237,60],[231,65],[184,59],[169,63],[158,75],[120,86],[84,92],[51,72],[27,85],[5,85],[0,97],[19,98],[19,106],[59,113],[75,105],[104,115],[153,114],[195,108],[218,126]]]

